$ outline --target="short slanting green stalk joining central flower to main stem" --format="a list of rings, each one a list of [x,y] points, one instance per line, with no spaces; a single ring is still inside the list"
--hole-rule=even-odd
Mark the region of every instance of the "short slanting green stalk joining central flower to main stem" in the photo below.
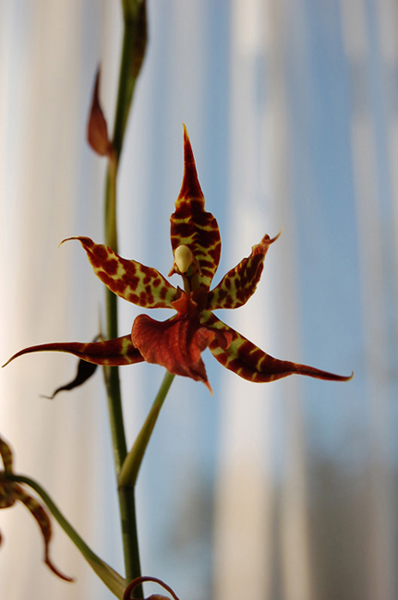
[[[174,377],[175,375],[172,375],[166,371],[146,421],[143,424],[133,447],[123,463],[122,470],[120,471],[119,475],[119,489],[134,489],[135,487],[145,450],[147,449],[153,428],[155,427],[160,410],[166,399],[170,386],[173,383]]]

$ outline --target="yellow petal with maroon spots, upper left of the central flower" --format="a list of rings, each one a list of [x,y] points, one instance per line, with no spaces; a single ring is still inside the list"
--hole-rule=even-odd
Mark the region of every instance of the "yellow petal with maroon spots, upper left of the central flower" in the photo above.
[[[94,273],[120,298],[144,308],[171,308],[177,290],[157,269],[121,258],[108,246],[95,244],[88,237],[72,237],[63,242],[68,240],[79,240]]]

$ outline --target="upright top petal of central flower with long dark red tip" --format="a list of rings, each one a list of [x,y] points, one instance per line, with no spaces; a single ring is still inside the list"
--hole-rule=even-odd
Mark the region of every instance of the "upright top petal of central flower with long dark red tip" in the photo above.
[[[220,262],[221,238],[213,215],[205,211],[205,200],[196,172],[191,142],[184,125],[184,177],[171,215],[171,245],[188,246],[201,272],[201,284],[209,289]]]

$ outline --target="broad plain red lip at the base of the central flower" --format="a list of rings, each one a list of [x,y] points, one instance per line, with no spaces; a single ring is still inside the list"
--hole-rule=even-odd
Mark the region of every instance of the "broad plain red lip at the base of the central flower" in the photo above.
[[[215,338],[220,347],[226,347],[230,341],[228,334],[201,325],[198,318],[190,315],[176,315],[167,321],[139,315],[131,338],[147,362],[162,365],[174,375],[203,381],[210,391],[201,352]]]

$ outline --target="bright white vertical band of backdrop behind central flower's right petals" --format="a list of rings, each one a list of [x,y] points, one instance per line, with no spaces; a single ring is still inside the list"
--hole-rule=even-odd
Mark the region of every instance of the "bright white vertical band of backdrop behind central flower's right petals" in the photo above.
[[[231,209],[224,243],[234,265],[264,233],[277,233],[270,203],[269,115],[264,103],[265,3],[233,2],[231,33]],[[263,278],[274,268],[275,247]],[[265,348],[273,317],[264,283],[228,323]],[[215,521],[217,600],[269,598],[272,585],[272,386],[224,375]]]

